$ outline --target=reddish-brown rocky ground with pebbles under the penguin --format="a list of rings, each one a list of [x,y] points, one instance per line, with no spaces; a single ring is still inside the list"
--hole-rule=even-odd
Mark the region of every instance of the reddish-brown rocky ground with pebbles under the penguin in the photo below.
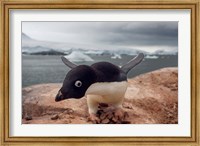
[[[163,68],[128,80],[122,116],[101,104],[97,123],[177,124],[178,69]],[[55,102],[61,84],[23,88],[23,124],[88,124],[86,98]]]

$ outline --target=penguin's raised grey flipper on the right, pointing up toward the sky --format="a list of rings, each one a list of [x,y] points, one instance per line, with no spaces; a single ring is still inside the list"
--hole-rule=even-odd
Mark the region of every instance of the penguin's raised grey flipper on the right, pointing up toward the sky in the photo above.
[[[136,65],[138,65],[144,58],[144,54],[140,53],[135,58],[130,60],[128,63],[123,65],[121,69],[127,74],[132,68],[134,68]]]

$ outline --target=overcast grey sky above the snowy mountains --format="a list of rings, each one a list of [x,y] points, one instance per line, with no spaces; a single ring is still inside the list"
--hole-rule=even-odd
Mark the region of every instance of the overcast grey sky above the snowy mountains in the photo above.
[[[97,48],[178,48],[178,22],[23,22],[22,32],[37,40]]]

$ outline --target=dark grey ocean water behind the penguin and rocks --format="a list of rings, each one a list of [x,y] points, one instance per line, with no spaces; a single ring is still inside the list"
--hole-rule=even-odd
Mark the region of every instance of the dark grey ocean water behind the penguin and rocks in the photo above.
[[[70,70],[65,66],[61,56],[51,55],[23,55],[22,56],[22,87],[41,83],[61,83]],[[111,59],[110,55],[91,56],[95,61],[107,61],[116,65],[123,65],[134,56],[122,55],[122,59]],[[80,62],[76,64],[90,65],[94,62]],[[178,55],[159,55],[157,59],[145,58],[142,63],[132,69],[128,77],[150,72],[164,67],[177,67]]]

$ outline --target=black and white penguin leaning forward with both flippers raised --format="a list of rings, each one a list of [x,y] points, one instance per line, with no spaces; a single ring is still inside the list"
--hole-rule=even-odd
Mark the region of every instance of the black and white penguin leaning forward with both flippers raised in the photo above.
[[[63,63],[71,68],[66,75],[55,101],[86,96],[90,118],[96,120],[99,103],[122,108],[123,98],[128,87],[127,74],[144,58],[140,53],[122,67],[109,62],[98,62],[91,66],[79,65],[61,57]]]

